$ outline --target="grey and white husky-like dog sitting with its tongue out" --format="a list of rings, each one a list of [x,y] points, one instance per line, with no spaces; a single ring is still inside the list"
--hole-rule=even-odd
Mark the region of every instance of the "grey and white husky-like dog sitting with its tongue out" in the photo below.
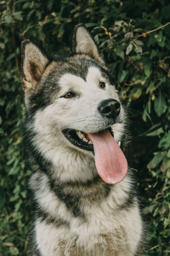
[[[122,151],[126,111],[90,33],[78,24],[66,56],[51,60],[28,39],[21,55],[33,171],[28,255],[144,255],[145,225]]]

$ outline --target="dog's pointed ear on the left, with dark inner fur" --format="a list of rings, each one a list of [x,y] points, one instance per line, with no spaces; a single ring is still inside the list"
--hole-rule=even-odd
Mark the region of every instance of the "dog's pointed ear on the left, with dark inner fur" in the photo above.
[[[21,80],[25,93],[30,92],[40,81],[48,63],[47,57],[29,39],[21,45]]]

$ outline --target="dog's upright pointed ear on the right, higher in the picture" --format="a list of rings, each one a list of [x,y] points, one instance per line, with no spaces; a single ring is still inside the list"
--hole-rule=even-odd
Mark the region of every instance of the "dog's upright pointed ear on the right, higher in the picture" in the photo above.
[[[95,42],[83,23],[76,25],[74,28],[72,50],[73,52],[87,54],[104,65],[104,61],[98,54]]]

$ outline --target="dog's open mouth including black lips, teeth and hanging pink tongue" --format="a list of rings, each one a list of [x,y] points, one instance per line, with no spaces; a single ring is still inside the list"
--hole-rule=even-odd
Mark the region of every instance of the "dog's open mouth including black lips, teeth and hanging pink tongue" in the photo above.
[[[99,176],[108,184],[121,182],[127,173],[127,160],[111,127],[97,133],[65,129],[64,136],[76,147],[93,152]]]

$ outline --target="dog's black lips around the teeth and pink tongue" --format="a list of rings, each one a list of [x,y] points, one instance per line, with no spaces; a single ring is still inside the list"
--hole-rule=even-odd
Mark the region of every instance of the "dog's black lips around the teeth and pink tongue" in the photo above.
[[[109,130],[109,132],[111,133],[111,135],[114,137],[112,128],[109,126],[107,128]],[[106,130],[106,129],[105,129]],[[84,142],[82,139],[79,138],[79,136],[77,136],[76,132],[79,132],[77,130],[74,129],[64,129],[62,130],[62,133],[64,134],[64,136],[76,147],[82,148],[83,150],[87,150],[87,151],[91,151],[94,154],[94,147],[91,144],[88,144],[87,142]],[[96,132],[96,134],[98,133],[102,133],[103,130]],[[86,132],[81,131],[81,133],[83,133],[86,138],[88,138],[88,135]],[[89,138],[88,138],[89,139]]]

